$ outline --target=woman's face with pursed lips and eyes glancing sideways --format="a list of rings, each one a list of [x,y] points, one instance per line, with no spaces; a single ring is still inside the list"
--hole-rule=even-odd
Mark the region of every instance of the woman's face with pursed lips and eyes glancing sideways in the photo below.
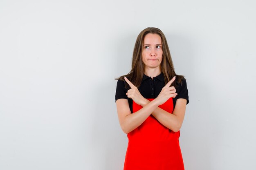
[[[148,33],[144,37],[142,61],[145,68],[157,68],[162,62],[162,39],[158,34]]]

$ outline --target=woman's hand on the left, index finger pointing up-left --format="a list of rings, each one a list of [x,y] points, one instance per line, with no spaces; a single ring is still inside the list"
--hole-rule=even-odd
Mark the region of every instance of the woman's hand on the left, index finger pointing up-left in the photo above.
[[[130,82],[128,80],[128,78],[124,77],[125,81],[129,84],[129,86],[131,87],[131,89],[129,89],[126,93],[127,97],[129,97],[130,99],[132,99],[135,103],[142,105],[146,102],[146,99],[139,93],[139,90],[136,86],[134,86],[132,84],[132,82]]]

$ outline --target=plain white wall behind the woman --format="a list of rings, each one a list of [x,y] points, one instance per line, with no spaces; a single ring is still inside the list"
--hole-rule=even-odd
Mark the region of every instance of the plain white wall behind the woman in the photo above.
[[[121,170],[114,77],[148,26],[187,79],[186,170],[255,169],[255,21],[253,0],[2,0],[0,170]]]

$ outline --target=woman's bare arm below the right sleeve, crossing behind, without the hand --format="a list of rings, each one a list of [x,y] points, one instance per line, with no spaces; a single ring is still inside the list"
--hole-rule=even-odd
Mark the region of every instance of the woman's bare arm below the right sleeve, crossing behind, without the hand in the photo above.
[[[148,103],[150,101],[148,100]],[[176,101],[173,114],[157,107],[152,115],[166,128],[177,132],[180,130],[186,111],[186,99],[179,98]]]

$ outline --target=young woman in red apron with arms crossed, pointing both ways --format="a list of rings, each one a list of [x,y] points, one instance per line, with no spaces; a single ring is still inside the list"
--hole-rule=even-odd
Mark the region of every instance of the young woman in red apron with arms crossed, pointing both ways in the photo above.
[[[179,137],[189,96],[161,30],[139,33],[132,69],[119,77],[115,99],[128,134],[124,170],[184,170]]]

